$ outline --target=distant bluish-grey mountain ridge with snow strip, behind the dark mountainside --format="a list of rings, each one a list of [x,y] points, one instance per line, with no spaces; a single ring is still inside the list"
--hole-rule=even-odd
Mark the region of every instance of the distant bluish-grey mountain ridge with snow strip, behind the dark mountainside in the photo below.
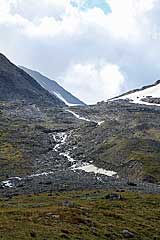
[[[33,77],[43,88],[49,91],[52,95],[57,96],[60,100],[62,100],[68,106],[75,105],[86,105],[78,98],[73,96],[71,93],[66,91],[63,87],[61,87],[56,81],[50,80],[49,78],[43,76],[39,72],[33,71],[31,69],[21,67],[25,72],[27,72],[31,77]]]

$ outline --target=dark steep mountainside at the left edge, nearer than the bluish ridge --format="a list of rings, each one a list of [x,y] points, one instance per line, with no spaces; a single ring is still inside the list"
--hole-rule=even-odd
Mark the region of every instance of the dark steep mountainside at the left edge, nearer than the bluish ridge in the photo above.
[[[25,71],[11,63],[3,54],[0,54],[0,101],[65,105],[59,98],[43,89]]]

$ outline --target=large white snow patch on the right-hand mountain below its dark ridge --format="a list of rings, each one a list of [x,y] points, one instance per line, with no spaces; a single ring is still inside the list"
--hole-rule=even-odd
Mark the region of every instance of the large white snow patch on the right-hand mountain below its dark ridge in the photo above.
[[[160,84],[157,84],[153,87],[146,88],[141,91],[137,91],[122,97],[118,97],[113,99],[114,100],[119,100],[119,99],[125,99],[125,100],[131,100],[133,103],[136,104],[145,104],[145,105],[155,105],[155,106],[160,106],[160,104],[156,103],[148,103],[143,101],[144,98],[160,98]]]

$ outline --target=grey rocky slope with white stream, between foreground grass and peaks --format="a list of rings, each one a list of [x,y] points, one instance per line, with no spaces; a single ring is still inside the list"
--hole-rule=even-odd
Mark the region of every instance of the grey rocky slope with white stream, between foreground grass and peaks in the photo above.
[[[0,194],[160,192],[159,113],[130,103],[68,109],[2,102]]]

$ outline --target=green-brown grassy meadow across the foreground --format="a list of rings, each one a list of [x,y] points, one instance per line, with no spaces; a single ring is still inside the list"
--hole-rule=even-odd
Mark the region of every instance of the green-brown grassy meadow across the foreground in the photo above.
[[[13,197],[0,201],[0,239],[160,239],[160,195],[81,191]]]

